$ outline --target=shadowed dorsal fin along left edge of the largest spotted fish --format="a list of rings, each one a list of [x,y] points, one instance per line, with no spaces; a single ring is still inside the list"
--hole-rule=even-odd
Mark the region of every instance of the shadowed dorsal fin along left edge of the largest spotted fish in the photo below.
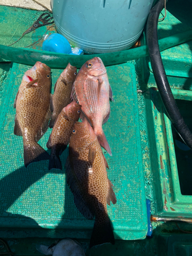
[[[70,149],[69,149],[69,154]],[[75,176],[75,172],[73,170],[73,166],[71,164],[72,157],[68,157],[66,161],[66,174],[67,174],[67,183],[73,193],[74,196],[74,203],[77,209],[81,212],[81,214],[87,219],[93,219],[94,213],[91,211],[89,204],[87,203],[84,195],[82,193],[81,187],[78,183],[78,180]]]

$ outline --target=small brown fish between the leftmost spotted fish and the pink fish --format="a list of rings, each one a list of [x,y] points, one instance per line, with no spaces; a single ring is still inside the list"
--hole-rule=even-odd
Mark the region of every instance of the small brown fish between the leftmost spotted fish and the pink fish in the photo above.
[[[54,94],[51,100],[51,110],[53,114],[49,123],[50,128],[54,126],[61,110],[71,102],[71,91],[76,75],[77,68],[71,66],[69,63],[55,83]]]

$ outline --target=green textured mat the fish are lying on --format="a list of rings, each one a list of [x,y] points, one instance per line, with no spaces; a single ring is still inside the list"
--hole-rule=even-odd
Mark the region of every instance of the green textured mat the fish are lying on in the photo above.
[[[13,63],[7,79],[0,84],[0,236],[8,236],[6,230],[12,228],[20,231],[34,228],[36,237],[44,231],[46,236],[47,230],[52,229],[62,230],[62,236],[90,238],[94,220],[84,219],[76,209],[66,184],[65,168],[48,170],[48,161],[30,164],[28,168],[24,166],[23,139],[13,133],[13,103],[29,68]],[[106,69],[115,102],[111,103],[111,116],[103,130],[113,156],[103,152],[117,197],[117,203],[108,206],[108,214],[116,239],[142,239],[147,232],[147,216],[135,67],[126,63]],[[52,92],[60,73],[61,70],[52,70]],[[50,133],[51,129],[39,141],[45,149]],[[63,166],[67,156],[68,149],[61,155]],[[12,232],[11,236],[19,234]],[[22,236],[30,235],[24,232]]]

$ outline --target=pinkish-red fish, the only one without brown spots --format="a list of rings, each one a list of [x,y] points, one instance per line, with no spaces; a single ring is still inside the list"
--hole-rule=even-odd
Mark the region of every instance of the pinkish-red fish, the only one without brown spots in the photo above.
[[[71,96],[73,100],[77,97],[82,112],[93,126],[99,143],[112,155],[102,124],[108,121],[110,116],[109,99],[114,99],[106,69],[99,57],[88,60],[81,67],[73,84]]]

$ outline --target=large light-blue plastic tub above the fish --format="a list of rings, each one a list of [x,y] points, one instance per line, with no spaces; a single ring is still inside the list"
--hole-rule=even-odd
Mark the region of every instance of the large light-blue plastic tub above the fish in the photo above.
[[[51,0],[57,31],[87,53],[115,52],[138,40],[154,0]]]

